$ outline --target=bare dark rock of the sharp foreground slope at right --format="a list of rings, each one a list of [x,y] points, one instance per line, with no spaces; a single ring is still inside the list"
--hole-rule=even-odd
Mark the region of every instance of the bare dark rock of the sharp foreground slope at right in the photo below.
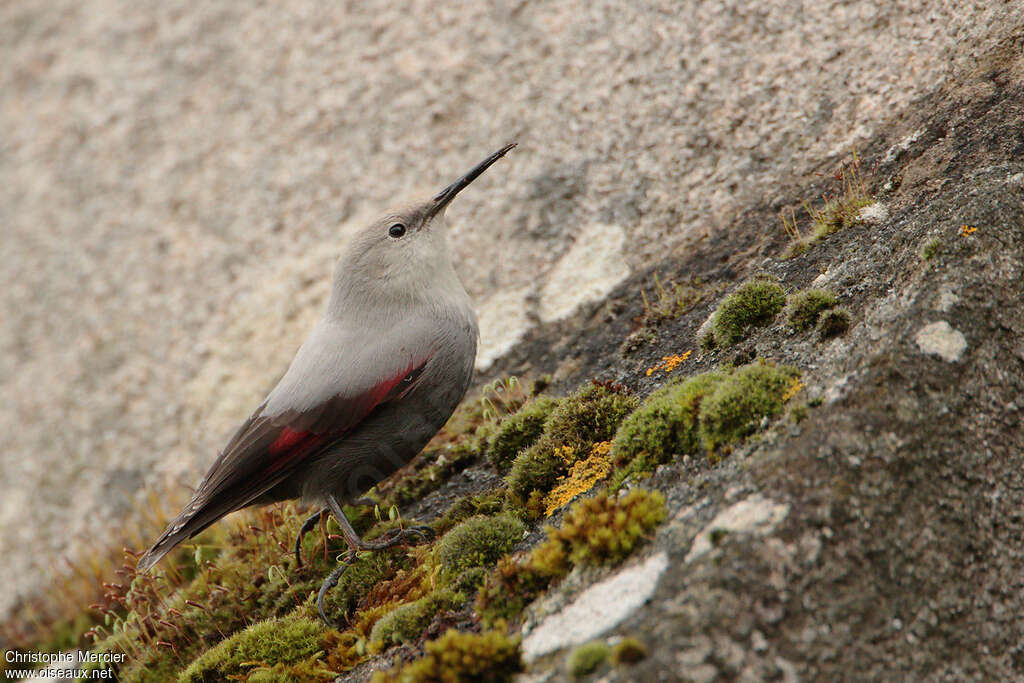
[[[1006,43],[867,146],[887,218],[782,260],[775,221],[792,200],[752,207],[729,234],[652,265],[574,325],[527,335],[500,364],[567,384],[601,372],[646,392],[666,378],[644,369],[694,348],[717,292],[757,271],[790,292],[827,287],[852,314],[831,341],[778,319],[676,371],[793,364],[809,415],[696,474],[679,463],[644,482],[674,506],[649,552],[680,569],[605,636],[639,637],[651,655],[600,669],[601,680],[1024,675],[1024,194],[1012,180],[1024,168],[1022,48]],[[609,354],[636,325],[632,293],[654,272],[695,273],[716,294],[649,345]],[[546,335],[566,351],[543,353]],[[787,513],[769,514],[769,501]],[[736,514],[744,508],[761,514]],[[769,520],[766,533],[715,532],[737,518]],[[561,680],[559,656],[531,672]]]

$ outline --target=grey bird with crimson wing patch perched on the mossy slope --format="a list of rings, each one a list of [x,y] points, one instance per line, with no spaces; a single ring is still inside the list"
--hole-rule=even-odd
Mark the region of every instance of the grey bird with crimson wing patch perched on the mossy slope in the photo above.
[[[214,461],[191,501],[139,559],[145,570],[224,515],[302,499],[341,526],[349,560],[422,538],[429,527],[362,541],[342,504],[406,465],[444,425],[469,387],[478,336],[445,240],[444,209],[515,146],[508,144],[427,201],[385,214],[338,261],[324,315],[288,372]],[[337,584],[341,564],[324,582]]]

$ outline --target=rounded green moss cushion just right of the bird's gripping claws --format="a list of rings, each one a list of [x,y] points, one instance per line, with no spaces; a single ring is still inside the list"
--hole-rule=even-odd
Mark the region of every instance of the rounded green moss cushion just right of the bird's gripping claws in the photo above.
[[[487,566],[522,540],[525,525],[512,515],[471,517],[444,535],[436,556],[450,577]]]

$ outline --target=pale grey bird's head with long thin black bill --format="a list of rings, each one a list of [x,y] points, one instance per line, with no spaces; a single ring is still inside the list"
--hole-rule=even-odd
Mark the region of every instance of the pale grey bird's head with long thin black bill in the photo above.
[[[504,157],[507,144],[437,195],[389,211],[352,239],[335,275],[334,298],[410,300],[435,289],[462,286],[455,280],[444,238],[444,209],[469,183]]]

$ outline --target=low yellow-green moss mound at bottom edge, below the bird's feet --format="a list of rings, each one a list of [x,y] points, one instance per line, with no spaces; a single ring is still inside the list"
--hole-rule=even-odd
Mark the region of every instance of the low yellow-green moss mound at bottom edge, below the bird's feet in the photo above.
[[[257,667],[295,665],[322,653],[324,627],[307,618],[271,618],[253,624],[210,648],[178,677],[179,683],[225,680]],[[314,680],[330,680],[330,672]]]

